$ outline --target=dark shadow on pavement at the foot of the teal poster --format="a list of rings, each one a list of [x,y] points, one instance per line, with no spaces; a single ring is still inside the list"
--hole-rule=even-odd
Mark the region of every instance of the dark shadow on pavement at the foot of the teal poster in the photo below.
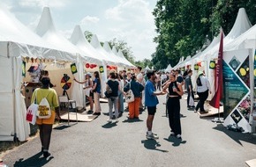
[[[230,136],[231,139],[233,139],[235,142],[243,146],[243,144],[240,141],[249,142],[252,144],[256,144],[256,136],[252,134],[243,134],[241,132],[234,132],[227,129],[227,127],[224,127],[222,124],[217,124],[216,127],[214,127],[215,130],[222,131],[224,134],[227,134]]]

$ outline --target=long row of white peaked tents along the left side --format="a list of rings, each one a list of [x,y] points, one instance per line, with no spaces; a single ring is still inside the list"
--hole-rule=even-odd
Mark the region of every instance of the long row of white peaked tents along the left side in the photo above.
[[[0,7],[0,141],[12,141],[13,136],[19,141],[25,141],[30,133],[26,122],[25,99],[20,92],[24,82],[22,76],[22,62],[30,60],[32,65],[43,62],[51,74],[59,76],[57,71],[71,73],[70,64],[76,63],[78,73],[74,74],[79,80],[84,79],[85,70],[99,70],[102,73],[102,86],[107,79],[107,65],[116,66],[118,69],[133,68],[124,54],[116,47],[112,49],[109,43],[101,46],[97,36],[94,35],[91,43],[87,41],[79,25],[74,28],[70,40],[67,40],[56,31],[48,7],[45,7],[35,33],[21,24],[10,11]],[[46,61],[45,61],[46,60]],[[52,62],[65,64],[64,69],[57,69]],[[86,63],[97,65],[97,69],[86,69]],[[26,66],[26,69],[29,67]],[[63,71],[65,70],[65,71]],[[54,74],[56,73],[56,75]],[[52,77],[51,77],[52,78]],[[59,79],[60,80],[60,79]],[[104,89],[104,86],[103,86]],[[81,84],[72,83],[72,99],[78,106],[84,105],[83,87]]]

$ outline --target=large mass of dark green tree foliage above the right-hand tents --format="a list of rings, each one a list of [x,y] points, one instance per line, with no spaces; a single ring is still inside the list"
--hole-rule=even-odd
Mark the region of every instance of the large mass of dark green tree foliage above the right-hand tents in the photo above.
[[[229,33],[241,7],[254,25],[255,5],[255,0],[158,0],[153,11],[158,44],[152,54],[155,69],[175,66],[180,57],[207,47],[221,26]]]

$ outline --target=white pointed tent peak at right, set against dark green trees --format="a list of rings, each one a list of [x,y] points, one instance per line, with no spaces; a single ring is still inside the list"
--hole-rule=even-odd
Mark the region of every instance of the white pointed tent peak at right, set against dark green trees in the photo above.
[[[235,24],[233,25],[227,37],[230,39],[235,39],[242,33],[245,33],[251,27],[252,24],[246,14],[245,8],[240,8],[237,14]]]

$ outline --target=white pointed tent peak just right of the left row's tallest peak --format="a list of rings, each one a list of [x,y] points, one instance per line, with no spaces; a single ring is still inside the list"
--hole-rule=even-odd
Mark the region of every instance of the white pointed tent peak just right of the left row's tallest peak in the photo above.
[[[84,36],[80,25],[75,26],[70,41],[75,45],[77,45],[78,43],[87,45],[89,43],[86,37]]]

